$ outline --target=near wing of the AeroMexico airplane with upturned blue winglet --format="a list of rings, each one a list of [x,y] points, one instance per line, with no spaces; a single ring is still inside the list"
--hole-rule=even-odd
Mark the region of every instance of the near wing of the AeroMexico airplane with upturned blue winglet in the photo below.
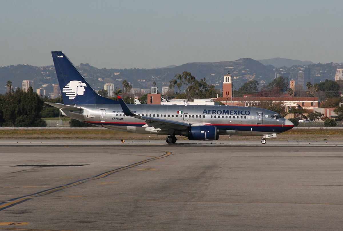
[[[184,129],[185,127],[191,126],[190,123],[170,121],[170,120],[159,119],[159,118],[155,118],[155,117],[147,117],[147,116],[143,116],[143,115],[137,115],[130,110],[130,108],[127,106],[127,104],[124,102],[124,100],[120,96],[118,96],[118,99],[119,99],[120,106],[123,109],[123,112],[126,116],[131,116],[131,117],[134,117],[137,119],[145,120],[145,122],[147,124],[150,124],[150,123],[156,123],[156,125],[166,124],[166,125],[169,125],[173,128],[178,128],[178,129]]]

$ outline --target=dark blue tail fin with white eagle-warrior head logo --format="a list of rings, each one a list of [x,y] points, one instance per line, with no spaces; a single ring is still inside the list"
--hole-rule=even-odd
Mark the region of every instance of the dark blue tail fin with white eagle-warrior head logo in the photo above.
[[[97,94],[63,52],[52,51],[51,54],[64,104],[119,103]]]

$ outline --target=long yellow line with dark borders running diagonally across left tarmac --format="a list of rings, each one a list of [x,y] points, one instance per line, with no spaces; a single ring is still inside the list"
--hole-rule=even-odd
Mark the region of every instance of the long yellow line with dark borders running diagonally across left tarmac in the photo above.
[[[161,156],[153,157],[153,158],[150,158],[150,159],[146,159],[144,161],[140,161],[140,162],[137,162],[137,163],[134,163],[134,164],[131,164],[131,165],[127,165],[125,167],[117,168],[117,169],[111,170],[109,172],[105,172],[105,173],[96,175],[96,176],[91,177],[91,178],[86,178],[86,179],[83,179],[83,180],[78,180],[78,181],[75,181],[75,182],[67,184],[67,185],[62,185],[62,186],[58,186],[58,187],[55,187],[55,188],[50,188],[50,189],[47,189],[47,190],[44,190],[44,191],[36,192],[34,194],[30,194],[30,195],[26,195],[26,196],[23,196],[23,197],[18,197],[18,198],[14,198],[14,199],[2,202],[2,203],[0,203],[0,211],[4,210],[4,209],[7,209],[9,207],[12,207],[14,205],[17,205],[19,203],[22,203],[24,201],[27,201],[29,199],[40,197],[40,196],[44,196],[44,195],[47,195],[47,194],[50,194],[50,193],[53,193],[53,192],[56,192],[56,191],[59,191],[59,190],[65,189],[65,188],[70,188],[70,187],[73,187],[73,186],[85,183],[85,182],[90,181],[90,180],[95,180],[95,179],[103,178],[103,177],[109,176],[109,175],[111,175],[113,173],[116,173],[116,172],[119,172],[119,171],[122,171],[122,170],[125,170],[125,169],[128,169],[128,168],[132,168],[132,167],[135,167],[135,166],[138,166],[138,165],[150,162],[150,161],[154,161],[156,159],[161,159],[161,158],[169,156],[171,154],[171,152],[166,152],[166,151],[162,151],[162,152],[165,152],[165,154],[163,154]]]

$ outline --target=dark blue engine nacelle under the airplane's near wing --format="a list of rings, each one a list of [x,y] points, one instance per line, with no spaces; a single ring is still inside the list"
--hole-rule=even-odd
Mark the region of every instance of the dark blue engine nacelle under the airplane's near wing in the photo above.
[[[218,140],[217,128],[211,125],[194,126],[188,129],[188,140]]]

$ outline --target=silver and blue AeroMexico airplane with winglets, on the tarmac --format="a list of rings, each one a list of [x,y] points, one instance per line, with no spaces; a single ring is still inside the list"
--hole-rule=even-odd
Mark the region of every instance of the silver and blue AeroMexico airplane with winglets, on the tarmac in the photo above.
[[[176,136],[189,140],[218,140],[220,135],[251,135],[266,138],[292,129],[294,124],[279,113],[253,107],[126,104],[100,96],[68,57],[52,51],[64,104],[45,102],[76,120],[117,131]]]

